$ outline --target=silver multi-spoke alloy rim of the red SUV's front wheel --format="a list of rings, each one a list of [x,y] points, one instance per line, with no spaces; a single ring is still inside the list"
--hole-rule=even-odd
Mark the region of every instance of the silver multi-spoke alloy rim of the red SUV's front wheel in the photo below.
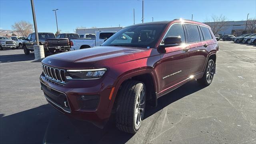
[[[145,90],[142,89],[140,94],[137,96],[135,109],[134,109],[134,126],[138,130],[143,119],[145,108]]]

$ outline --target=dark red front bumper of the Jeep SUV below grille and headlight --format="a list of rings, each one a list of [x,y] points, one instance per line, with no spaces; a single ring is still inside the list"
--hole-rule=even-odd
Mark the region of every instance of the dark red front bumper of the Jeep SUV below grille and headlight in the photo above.
[[[72,118],[104,122],[110,117],[112,108],[109,107],[109,95],[114,80],[108,76],[97,80],[70,80],[66,84],[58,84],[42,74],[40,83],[48,103]]]

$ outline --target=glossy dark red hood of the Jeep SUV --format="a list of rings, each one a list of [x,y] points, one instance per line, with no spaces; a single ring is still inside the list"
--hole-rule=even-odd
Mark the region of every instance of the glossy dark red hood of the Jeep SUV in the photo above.
[[[89,68],[99,63],[117,64],[147,57],[146,48],[97,46],[46,57],[42,63],[59,68]],[[106,65],[104,65],[106,66]]]

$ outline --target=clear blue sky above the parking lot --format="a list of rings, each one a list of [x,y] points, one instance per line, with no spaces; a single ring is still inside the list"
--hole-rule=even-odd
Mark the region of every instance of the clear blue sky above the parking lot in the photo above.
[[[39,32],[56,32],[55,15],[58,8],[58,28],[74,32],[77,27],[115,27],[141,23],[141,0],[34,0]],[[212,14],[228,20],[256,17],[256,0],[144,0],[144,22],[191,19],[204,22]],[[11,30],[14,22],[33,23],[30,0],[0,0],[0,28]]]

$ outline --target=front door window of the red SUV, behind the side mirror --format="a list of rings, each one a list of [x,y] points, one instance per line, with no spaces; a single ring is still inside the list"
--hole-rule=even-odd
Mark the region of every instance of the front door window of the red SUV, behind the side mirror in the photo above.
[[[166,38],[168,36],[180,36],[181,37],[181,42],[185,43],[185,33],[184,33],[184,29],[183,29],[182,24],[174,24],[169,29],[169,31],[167,32],[167,34],[164,38]],[[162,42],[162,44],[164,44],[164,43]]]

